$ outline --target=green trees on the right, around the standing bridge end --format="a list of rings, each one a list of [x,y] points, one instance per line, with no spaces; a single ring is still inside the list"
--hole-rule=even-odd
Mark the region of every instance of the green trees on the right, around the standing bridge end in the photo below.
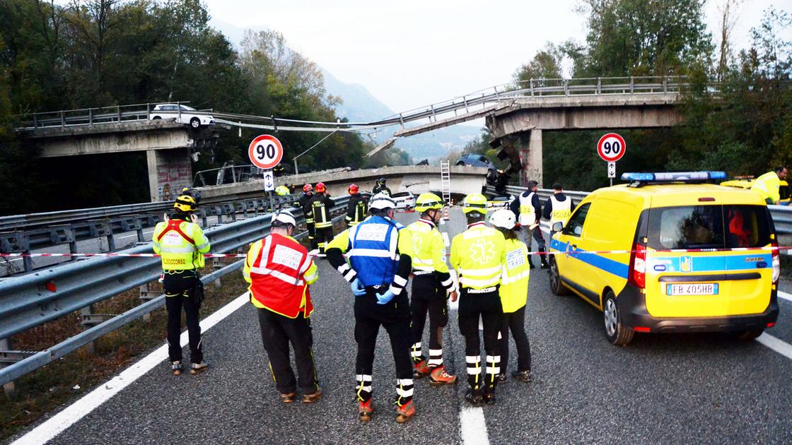
[[[718,36],[706,31],[703,0],[581,0],[587,17],[583,43],[548,42],[519,67],[529,79],[687,76],[680,105],[683,123],[660,130],[619,130],[627,143],[617,164],[626,171],[725,170],[755,175],[792,162],[792,17],[767,10],[750,32],[750,46],[733,49],[732,30],[750,2],[720,1]],[[717,44],[716,44],[717,42]],[[711,82],[719,82],[714,93]],[[607,185],[596,143],[607,131],[544,131],[544,186],[569,190]],[[466,147],[495,160],[489,134]],[[581,174],[592,172],[594,174]],[[512,178],[516,181],[516,177]]]

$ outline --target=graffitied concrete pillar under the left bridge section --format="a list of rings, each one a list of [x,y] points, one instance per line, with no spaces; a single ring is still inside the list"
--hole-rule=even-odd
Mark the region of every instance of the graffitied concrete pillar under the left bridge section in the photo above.
[[[190,149],[147,150],[146,162],[152,203],[175,200],[181,188],[192,187]]]

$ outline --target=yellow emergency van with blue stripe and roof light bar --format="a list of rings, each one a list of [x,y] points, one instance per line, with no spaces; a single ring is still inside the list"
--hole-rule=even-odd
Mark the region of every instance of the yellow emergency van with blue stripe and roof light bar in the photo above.
[[[624,173],[550,240],[550,290],[603,312],[605,336],[732,331],[760,336],[779,315],[775,228],[756,192],[723,172]],[[716,250],[717,249],[717,250]],[[727,250],[733,249],[733,250]]]

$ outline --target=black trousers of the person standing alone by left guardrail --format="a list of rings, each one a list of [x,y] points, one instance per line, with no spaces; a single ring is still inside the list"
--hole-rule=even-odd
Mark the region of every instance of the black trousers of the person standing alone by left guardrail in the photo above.
[[[187,315],[187,335],[190,339],[190,362],[204,361],[200,340],[200,303],[192,301],[192,287],[198,280],[194,270],[167,271],[162,279],[165,290],[165,307],[168,310],[168,356],[170,361],[181,361],[181,308]]]

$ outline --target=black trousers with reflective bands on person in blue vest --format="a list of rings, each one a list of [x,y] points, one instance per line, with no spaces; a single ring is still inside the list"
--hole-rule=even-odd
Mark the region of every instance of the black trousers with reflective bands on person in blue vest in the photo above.
[[[384,291],[384,289],[383,289]],[[413,363],[409,359],[409,298],[407,291],[387,304],[378,304],[375,291],[355,297],[355,341],[357,342],[356,394],[359,401],[371,399],[371,372],[379,326],[390,337],[396,364],[396,403],[404,405],[413,398]]]

